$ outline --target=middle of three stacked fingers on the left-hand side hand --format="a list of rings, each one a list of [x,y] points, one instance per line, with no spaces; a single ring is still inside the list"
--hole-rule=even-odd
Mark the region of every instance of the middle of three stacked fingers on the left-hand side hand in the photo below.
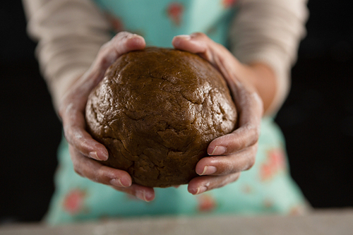
[[[73,146],[69,146],[73,169],[85,178],[110,186],[131,186],[131,176],[126,172],[112,167],[107,167],[95,160],[80,154]]]

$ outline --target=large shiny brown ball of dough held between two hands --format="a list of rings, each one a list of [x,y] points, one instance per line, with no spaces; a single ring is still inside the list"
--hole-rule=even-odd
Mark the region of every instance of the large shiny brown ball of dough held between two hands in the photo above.
[[[209,143],[234,130],[237,111],[222,75],[196,54],[150,47],[119,57],[92,90],[88,131],[107,147],[101,162],[133,183],[189,183]]]

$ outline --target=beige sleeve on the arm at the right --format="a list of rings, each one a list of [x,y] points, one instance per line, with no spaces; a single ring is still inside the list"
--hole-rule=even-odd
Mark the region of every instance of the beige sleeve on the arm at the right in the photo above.
[[[290,71],[305,36],[307,0],[239,0],[230,32],[232,53],[242,63],[263,62],[275,71],[277,89],[269,108],[274,114],[285,101]]]

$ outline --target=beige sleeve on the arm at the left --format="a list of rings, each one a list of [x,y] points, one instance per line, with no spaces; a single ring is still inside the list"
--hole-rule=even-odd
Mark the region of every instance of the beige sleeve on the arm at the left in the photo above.
[[[28,34],[38,42],[36,56],[58,109],[60,98],[92,64],[109,24],[90,0],[23,0]]]

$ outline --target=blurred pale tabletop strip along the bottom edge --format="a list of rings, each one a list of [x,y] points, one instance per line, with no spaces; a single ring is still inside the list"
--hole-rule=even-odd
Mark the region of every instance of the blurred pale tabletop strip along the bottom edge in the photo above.
[[[144,217],[105,222],[85,222],[48,227],[42,224],[12,224],[0,227],[9,234],[353,234],[353,209],[320,210],[304,216],[217,216],[217,217]]]

